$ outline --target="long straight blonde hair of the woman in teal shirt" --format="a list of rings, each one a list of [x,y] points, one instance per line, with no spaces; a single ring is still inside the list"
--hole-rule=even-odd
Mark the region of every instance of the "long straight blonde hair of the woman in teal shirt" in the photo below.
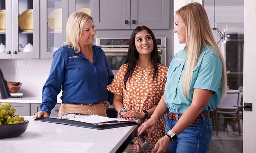
[[[188,96],[191,86],[193,69],[195,68],[202,45],[212,46],[222,61],[222,97],[225,97],[227,90],[226,63],[219,50],[211,31],[210,23],[203,6],[200,3],[189,3],[176,11],[186,27],[186,67],[183,75],[182,92]]]

